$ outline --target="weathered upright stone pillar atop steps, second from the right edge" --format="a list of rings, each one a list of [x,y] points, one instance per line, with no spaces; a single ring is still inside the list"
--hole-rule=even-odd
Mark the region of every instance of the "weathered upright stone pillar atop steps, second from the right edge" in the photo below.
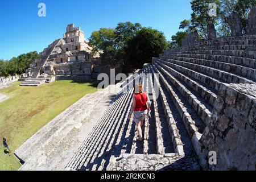
[[[242,35],[242,26],[241,20],[238,13],[233,12],[232,15],[229,16],[230,19],[230,28],[232,36],[241,36]]]

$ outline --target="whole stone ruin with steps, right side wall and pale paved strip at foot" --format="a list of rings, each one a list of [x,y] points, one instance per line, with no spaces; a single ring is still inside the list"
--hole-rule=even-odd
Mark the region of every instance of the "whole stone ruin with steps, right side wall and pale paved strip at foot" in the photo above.
[[[245,35],[165,51],[133,78],[153,97],[143,142],[127,120],[131,80],[104,109],[108,99],[96,93],[39,130],[15,151],[26,162],[20,169],[255,170],[255,45],[256,35]],[[90,117],[94,124],[82,125]],[[77,129],[85,133],[73,134]],[[209,151],[217,152],[216,166]]]

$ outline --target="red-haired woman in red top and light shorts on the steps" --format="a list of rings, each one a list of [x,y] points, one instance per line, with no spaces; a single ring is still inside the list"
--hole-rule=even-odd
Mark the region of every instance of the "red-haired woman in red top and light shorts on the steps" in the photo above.
[[[136,123],[140,141],[143,141],[141,126],[143,125],[146,115],[150,113],[150,106],[151,102],[148,98],[148,94],[143,92],[142,84],[135,84],[133,106],[131,107],[128,119],[131,119],[131,114],[134,112],[134,122]]]

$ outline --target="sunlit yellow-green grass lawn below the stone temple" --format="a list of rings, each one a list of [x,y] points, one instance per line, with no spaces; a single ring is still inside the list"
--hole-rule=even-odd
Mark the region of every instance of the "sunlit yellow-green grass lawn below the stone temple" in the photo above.
[[[0,103],[0,170],[17,170],[14,156],[3,153],[2,138],[12,151],[81,97],[97,91],[90,83],[55,81],[38,87],[19,86],[14,82],[0,93],[10,98]]]

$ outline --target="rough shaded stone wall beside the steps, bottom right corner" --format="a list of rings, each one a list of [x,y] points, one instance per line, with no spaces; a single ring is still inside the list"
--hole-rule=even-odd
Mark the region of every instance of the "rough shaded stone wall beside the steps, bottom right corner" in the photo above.
[[[197,153],[201,166],[210,170],[255,170],[256,85],[221,85],[210,126]],[[209,151],[217,152],[217,165],[208,163]]]

